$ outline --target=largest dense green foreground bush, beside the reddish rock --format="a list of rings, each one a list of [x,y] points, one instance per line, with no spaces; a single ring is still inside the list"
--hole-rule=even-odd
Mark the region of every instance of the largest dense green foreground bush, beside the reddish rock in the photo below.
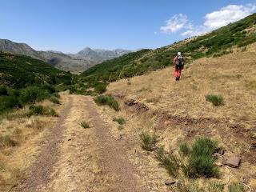
[[[218,177],[218,166],[215,165],[214,150],[217,142],[210,138],[198,138],[191,147],[188,163],[182,166],[186,176],[198,178],[200,176],[211,178]]]

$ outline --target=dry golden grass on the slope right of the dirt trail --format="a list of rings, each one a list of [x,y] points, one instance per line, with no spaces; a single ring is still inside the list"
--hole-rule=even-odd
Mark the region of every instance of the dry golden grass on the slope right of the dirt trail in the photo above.
[[[229,132],[229,127],[225,121],[244,127],[247,130],[254,128],[256,117],[256,44],[247,46],[246,51],[235,49],[234,53],[227,54],[219,58],[201,58],[190,64],[190,67],[183,71],[179,82],[174,81],[173,68],[158,70],[143,76],[130,78],[130,85],[126,80],[113,82],[108,86],[107,94],[122,96],[123,101],[133,98],[138,102],[143,102],[149,106],[150,111],[146,114],[134,114],[128,110],[122,110],[114,114],[110,110],[102,110],[102,116],[114,127],[111,116],[119,115],[126,118],[126,129],[122,130],[124,134],[122,139],[132,142],[136,148],[137,154],[144,154],[138,148],[138,134],[142,130],[150,130],[152,133],[159,122],[158,116],[152,114],[165,112],[166,114],[177,115],[178,117],[190,117],[196,119],[209,118],[217,119],[222,124],[209,122],[206,126],[193,126],[194,136],[188,137],[184,130],[191,128],[185,123],[167,123],[164,130],[157,130],[159,145],[171,146],[172,150],[178,151],[178,146],[184,141],[193,142],[196,133],[213,137],[219,145],[226,149],[226,156],[234,154],[243,154],[249,151],[250,143],[239,138],[233,132]],[[214,107],[206,101],[206,94],[221,94],[225,98],[225,105]],[[122,105],[122,102],[120,104]],[[184,126],[185,125],[185,126]],[[202,127],[202,128],[201,128]],[[198,130],[198,129],[202,130]],[[227,132],[226,132],[227,131]],[[120,132],[114,129],[112,134],[119,138]],[[227,134],[226,134],[227,133]],[[136,138],[136,139],[134,139]],[[192,139],[192,141],[191,141]],[[130,146],[130,148],[132,148]],[[154,158],[149,156],[140,157],[134,155],[134,150],[130,151],[130,160],[138,164],[144,181],[149,186],[158,186],[159,179],[165,179],[165,170],[158,167]],[[234,182],[239,182],[244,174],[256,174],[256,165],[246,162],[246,157],[242,157],[242,166],[238,170],[221,168],[221,178],[219,181],[228,182],[229,178]],[[218,162],[220,163],[220,162]],[[154,174],[158,173],[158,178]],[[161,176],[160,176],[161,175]],[[150,182],[148,181],[150,180]],[[211,182],[211,179],[201,179],[199,183]],[[158,184],[156,184],[158,183]],[[255,179],[250,178],[247,183],[249,186],[255,186]],[[158,190],[166,191],[161,186]]]

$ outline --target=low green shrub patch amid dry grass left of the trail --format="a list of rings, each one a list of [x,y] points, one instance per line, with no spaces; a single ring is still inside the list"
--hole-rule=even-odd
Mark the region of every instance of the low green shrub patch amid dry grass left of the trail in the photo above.
[[[26,114],[28,117],[32,115],[49,115],[49,116],[58,116],[56,111],[50,107],[41,106],[41,105],[32,105],[29,108],[29,112]]]

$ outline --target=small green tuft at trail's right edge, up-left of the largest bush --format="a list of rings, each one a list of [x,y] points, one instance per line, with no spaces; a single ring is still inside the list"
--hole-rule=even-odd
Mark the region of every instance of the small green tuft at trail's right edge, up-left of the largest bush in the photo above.
[[[143,150],[153,151],[156,148],[156,143],[158,142],[156,134],[149,134],[148,132],[143,132],[139,135],[141,138],[141,146]]]

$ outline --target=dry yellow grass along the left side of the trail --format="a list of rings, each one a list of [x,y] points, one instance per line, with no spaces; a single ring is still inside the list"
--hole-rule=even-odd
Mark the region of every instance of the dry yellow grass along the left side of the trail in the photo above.
[[[38,104],[58,112],[62,109],[50,101]],[[0,191],[10,190],[23,178],[43,145],[44,135],[56,121],[54,117],[28,118],[28,110],[26,107],[0,118]]]

